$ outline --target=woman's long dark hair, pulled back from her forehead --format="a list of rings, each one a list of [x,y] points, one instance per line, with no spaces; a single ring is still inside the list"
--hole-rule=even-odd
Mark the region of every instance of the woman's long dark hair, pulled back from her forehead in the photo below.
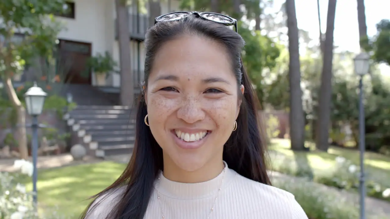
[[[147,30],[144,42],[145,87],[158,49],[165,42],[186,34],[209,37],[224,45],[230,55],[237,83],[245,87],[244,94],[240,96],[241,107],[237,118],[237,130],[232,132],[225,143],[223,160],[227,162],[229,168],[243,177],[270,185],[264,160],[265,143],[261,138],[262,132],[257,118],[259,102],[248,74],[242,66],[241,51],[245,42],[239,34],[218,23],[196,18],[195,15],[180,21],[157,23]],[[163,152],[149,127],[144,123],[146,114],[144,94],[141,94],[137,108],[135,145],[130,162],[112,185],[92,197],[100,198],[114,189],[125,188],[107,219],[142,219],[153,191],[154,180],[158,172],[163,170]],[[91,205],[92,203],[85,210],[82,218]],[[96,205],[98,203],[94,204],[93,208]]]

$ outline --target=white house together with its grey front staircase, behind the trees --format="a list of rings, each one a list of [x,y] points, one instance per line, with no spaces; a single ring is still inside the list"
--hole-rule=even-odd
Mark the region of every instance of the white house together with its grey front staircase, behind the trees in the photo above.
[[[67,2],[66,7],[70,9],[66,14],[57,15],[66,27],[58,34],[61,59],[57,59],[57,64],[66,63],[64,79],[67,86],[61,95],[72,94],[73,101],[78,105],[64,116],[71,132],[71,145],[82,144],[89,154],[97,157],[131,153],[135,122],[129,120],[129,117],[133,118],[131,107],[117,106],[121,76],[110,72],[103,84],[98,84],[95,72],[85,75],[83,70],[89,57],[106,51],[119,64],[115,1],[74,0]],[[142,13],[140,7],[138,0],[132,0],[128,7],[134,76],[129,86],[134,87],[135,94],[139,94],[140,84],[144,80],[143,40],[150,23],[147,3],[146,13]],[[179,1],[161,1],[160,8],[161,14],[178,11]],[[39,69],[27,68],[21,76],[14,77],[14,86],[37,79],[34,71]]]

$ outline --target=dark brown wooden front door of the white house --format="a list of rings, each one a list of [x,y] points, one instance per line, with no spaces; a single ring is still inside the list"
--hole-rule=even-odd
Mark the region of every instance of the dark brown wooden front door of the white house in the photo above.
[[[72,84],[91,84],[91,72],[87,61],[91,56],[91,44],[60,40],[60,69],[65,82]]]

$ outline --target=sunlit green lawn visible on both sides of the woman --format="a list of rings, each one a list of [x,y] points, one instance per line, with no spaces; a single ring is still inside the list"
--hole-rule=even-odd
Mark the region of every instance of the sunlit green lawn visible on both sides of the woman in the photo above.
[[[273,164],[272,168],[275,171],[286,173],[281,168],[288,167],[296,171],[305,165],[312,170],[314,175],[322,175],[334,167],[337,156],[346,157],[355,164],[359,163],[359,153],[355,150],[331,147],[329,153],[316,150],[309,153],[293,152],[289,149],[289,140],[273,140],[272,143],[269,154]],[[370,177],[390,187],[388,180],[390,178],[390,157],[367,152],[365,158]],[[40,170],[38,174],[40,210],[51,212],[53,208],[58,207],[60,215],[76,219],[90,202],[85,199],[110,185],[119,177],[124,168],[125,164],[99,162]],[[31,189],[31,187],[29,179],[27,188]]]

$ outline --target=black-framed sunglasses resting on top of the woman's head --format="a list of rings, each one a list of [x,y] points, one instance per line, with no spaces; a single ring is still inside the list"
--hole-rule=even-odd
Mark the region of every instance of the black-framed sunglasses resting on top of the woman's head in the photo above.
[[[230,18],[229,16],[218,14],[214,12],[186,12],[186,11],[178,11],[178,12],[172,12],[168,14],[164,14],[161,16],[158,16],[154,19],[154,24],[160,23],[160,22],[168,22],[168,21],[178,21],[181,19],[184,19],[188,17],[191,14],[195,14],[200,19],[204,19],[207,21],[213,21],[215,23],[220,23],[225,26],[232,26],[234,25],[234,28],[237,33],[237,20],[234,18]]]

